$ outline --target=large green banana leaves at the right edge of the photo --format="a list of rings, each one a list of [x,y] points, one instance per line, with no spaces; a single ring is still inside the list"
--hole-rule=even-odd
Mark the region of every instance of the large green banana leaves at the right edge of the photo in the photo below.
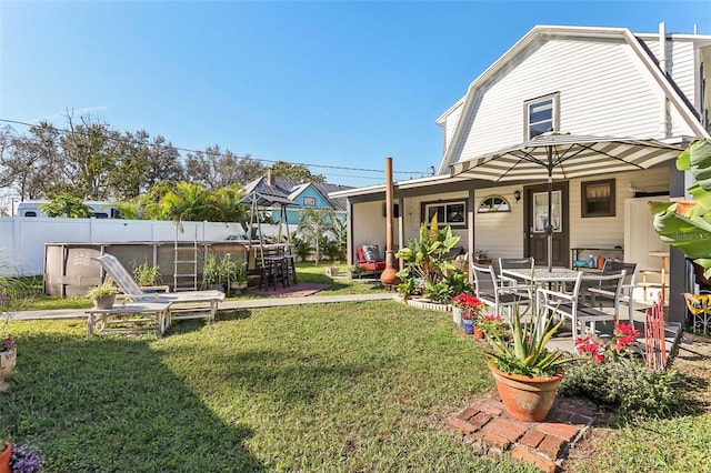
[[[711,140],[697,140],[677,158],[677,169],[691,171],[693,200],[652,202],[654,230],[661,240],[703,268],[711,278]]]

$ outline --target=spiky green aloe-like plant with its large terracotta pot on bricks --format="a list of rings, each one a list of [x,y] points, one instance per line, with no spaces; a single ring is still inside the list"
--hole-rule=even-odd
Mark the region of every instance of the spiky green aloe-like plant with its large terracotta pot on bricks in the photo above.
[[[562,366],[579,358],[561,351],[550,352],[545,345],[563,324],[549,320],[541,326],[541,314],[531,322],[521,321],[518,306],[512,310],[509,331],[495,320],[480,324],[491,351],[488,366],[499,395],[513,419],[540,422],[555,401],[558,385],[563,379]]]

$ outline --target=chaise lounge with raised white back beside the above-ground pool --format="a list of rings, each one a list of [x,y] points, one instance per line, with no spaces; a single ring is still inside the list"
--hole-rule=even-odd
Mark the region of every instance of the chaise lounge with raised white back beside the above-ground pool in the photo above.
[[[116,282],[126,299],[133,302],[170,303],[166,316],[166,329],[173,319],[209,319],[214,320],[218,304],[224,300],[222,291],[189,291],[189,292],[146,292],[142,290],[123,264],[112,254],[92,258],[101,264],[106,273]],[[167,286],[162,286],[167,289]]]

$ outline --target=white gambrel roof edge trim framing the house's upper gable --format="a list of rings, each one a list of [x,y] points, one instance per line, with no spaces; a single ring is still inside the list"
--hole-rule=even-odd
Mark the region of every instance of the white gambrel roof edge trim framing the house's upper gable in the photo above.
[[[649,39],[650,36],[645,38]],[[692,129],[697,137],[708,138],[708,132],[703,129],[699,119],[695,117],[694,111],[691,109],[687,100],[679,93],[674,84],[664,76],[658,66],[658,60],[652,53],[642,44],[642,40],[635,37],[627,28],[589,28],[589,27],[557,27],[557,26],[537,26],[529,31],[523,38],[521,38],[513,47],[511,47],[501,58],[499,58],[493,64],[491,64],[484,72],[482,72],[473,82],[469,84],[467,93],[463,98],[458,100],[452,107],[450,107],[442,115],[437,119],[439,124],[443,124],[448,114],[458,108],[462,108],[461,119],[457,123],[454,133],[450,145],[442,158],[439,173],[448,173],[449,167],[454,163],[457,150],[460,148],[463,140],[467,139],[467,129],[473,120],[470,111],[475,107],[479,91],[493,78],[500,74],[507,67],[509,67],[520,54],[525,53],[529,48],[539,41],[547,41],[551,39],[568,39],[568,38],[593,38],[601,40],[617,39],[627,43],[632,51],[631,58],[634,59],[634,64],[649,74],[658,84],[660,90],[669,99],[670,103],[679,110],[684,122]],[[711,37],[699,37],[702,42],[711,43]],[[688,37],[681,38],[688,40]],[[649,137],[644,137],[649,138]]]

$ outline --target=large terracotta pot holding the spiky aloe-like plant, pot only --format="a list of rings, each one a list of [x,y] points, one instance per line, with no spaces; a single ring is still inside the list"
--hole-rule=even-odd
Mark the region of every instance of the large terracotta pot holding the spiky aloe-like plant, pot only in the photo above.
[[[563,372],[551,378],[531,378],[499,371],[487,363],[509,415],[524,422],[541,422],[553,406]]]

